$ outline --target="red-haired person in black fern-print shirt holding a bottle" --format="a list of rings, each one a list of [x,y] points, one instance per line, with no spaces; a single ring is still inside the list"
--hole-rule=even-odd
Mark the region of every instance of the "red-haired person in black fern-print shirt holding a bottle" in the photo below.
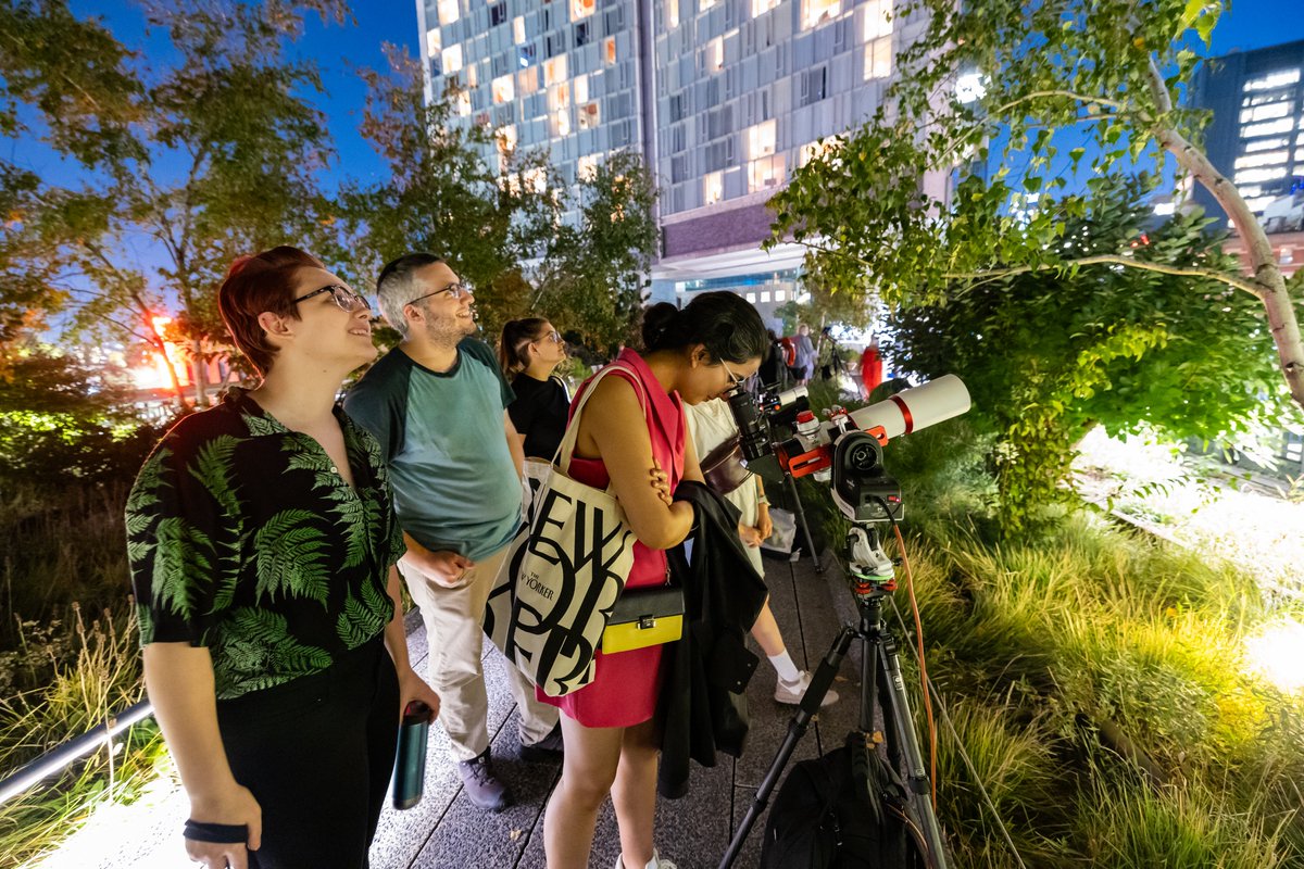
[[[295,248],[218,293],[262,374],[181,420],[126,506],[145,681],[205,866],[366,865],[412,671],[379,447],[335,405],[370,307]]]

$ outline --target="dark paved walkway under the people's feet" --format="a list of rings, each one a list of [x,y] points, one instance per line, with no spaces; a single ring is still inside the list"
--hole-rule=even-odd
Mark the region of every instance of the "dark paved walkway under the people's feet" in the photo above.
[[[825,564],[833,562],[825,555]],[[799,667],[814,668],[828,650],[842,621],[853,619],[850,593],[832,567],[816,573],[810,558],[798,563],[765,559],[771,602],[784,640]],[[425,636],[420,620],[409,636],[412,659],[425,663]],[[488,644],[486,644],[488,646]],[[752,644],[754,650],[755,644]],[[836,689],[842,700],[823,710],[798,745],[793,762],[836,748],[854,726],[859,697],[859,650],[842,662]],[[542,810],[557,783],[559,763],[531,763],[516,750],[515,707],[506,687],[505,662],[497,650],[485,657],[489,687],[490,732],[496,769],[511,786],[516,804],[501,814],[475,808],[462,791],[447,754],[447,739],[438,727],[430,732],[425,799],[407,812],[386,810],[372,848],[374,869],[541,869],[544,862]],[[690,793],[682,800],[660,800],[656,842],[679,869],[716,866],[737,825],[742,821],[788,731],[793,707],[773,701],[775,671],[762,661],[747,689],[751,734],[739,760],[720,756],[713,769],[694,763]],[[764,817],[758,821],[738,861],[755,866],[760,857]],[[591,866],[615,864],[619,840],[610,801],[602,810]]]

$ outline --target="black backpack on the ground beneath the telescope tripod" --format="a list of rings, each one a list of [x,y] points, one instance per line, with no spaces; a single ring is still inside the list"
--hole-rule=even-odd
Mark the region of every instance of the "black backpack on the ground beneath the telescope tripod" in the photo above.
[[[795,763],[765,825],[760,869],[927,869],[901,776],[865,734]]]

